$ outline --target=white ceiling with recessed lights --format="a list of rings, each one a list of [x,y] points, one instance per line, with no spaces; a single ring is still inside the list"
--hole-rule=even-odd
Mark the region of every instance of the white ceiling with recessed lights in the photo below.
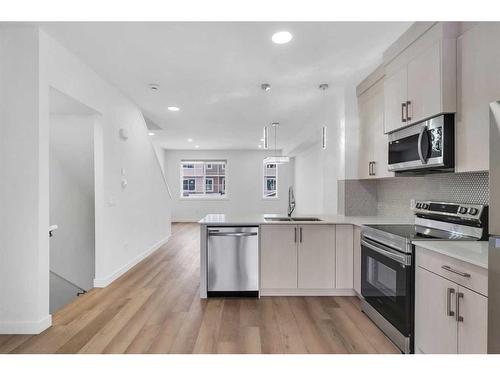
[[[43,27],[134,100],[166,148],[255,149],[279,121],[278,147],[324,121],[326,95],[358,82],[407,22],[87,22]],[[284,45],[271,35],[288,30]],[[270,92],[260,84],[270,83]],[[160,85],[152,92],[148,84]],[[337,95],[338,96],[338,95]],[[332,97],[335,97],[332,95]],[[333,100],[333,99],[332,99]],[[178,106],[169,112],[167,106]],[[188,143],[187,138],[194,142]]]

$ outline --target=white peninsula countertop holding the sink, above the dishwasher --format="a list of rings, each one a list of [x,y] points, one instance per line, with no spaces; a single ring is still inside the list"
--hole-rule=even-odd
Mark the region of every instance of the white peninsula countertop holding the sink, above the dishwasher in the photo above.
[[[203,225],[260,225],[260,224],[353,224],[361,226],[364,224],[412,224],[413,218],[395,218],[383,216],[343,216],[343,215],[310,215],[296,214],[292,217],[317,217],[321,221],[268,221],[269,216],[283,217],[286,215],[228,215],[210,214],[201,219],[198,223]]]

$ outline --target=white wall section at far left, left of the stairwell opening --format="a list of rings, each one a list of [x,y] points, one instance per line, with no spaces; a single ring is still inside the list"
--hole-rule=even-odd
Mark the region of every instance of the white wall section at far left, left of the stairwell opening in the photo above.
[[[44,84],[37,29],[0,27],[0,333],[51,324]]]

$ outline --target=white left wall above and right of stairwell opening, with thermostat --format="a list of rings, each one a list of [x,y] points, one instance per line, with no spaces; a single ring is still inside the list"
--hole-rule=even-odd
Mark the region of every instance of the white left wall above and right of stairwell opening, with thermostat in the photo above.
[[[96,178],[102,177],[102,191],[96,200],[102,212],[96,219],[102,221],[94,285],[106,286],[166,241],[170,199],[140,109],[43,31],[40,46],[50,86],[101,115],[102,176]],[[119,137],[120,128],[128,131],[127,140]]]

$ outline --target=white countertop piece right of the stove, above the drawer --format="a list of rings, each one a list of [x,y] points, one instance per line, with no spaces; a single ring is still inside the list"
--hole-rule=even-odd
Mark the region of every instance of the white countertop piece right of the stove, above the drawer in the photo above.
[[[413,241],[413,243],[478,267],[488,268],[488,241]]]

